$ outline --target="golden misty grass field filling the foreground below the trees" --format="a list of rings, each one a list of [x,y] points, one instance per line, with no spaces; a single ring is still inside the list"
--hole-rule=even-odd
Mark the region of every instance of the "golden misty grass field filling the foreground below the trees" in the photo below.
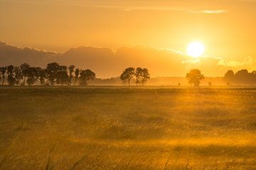
[[[256,89],[1,88],[0,169],[256,169]]]

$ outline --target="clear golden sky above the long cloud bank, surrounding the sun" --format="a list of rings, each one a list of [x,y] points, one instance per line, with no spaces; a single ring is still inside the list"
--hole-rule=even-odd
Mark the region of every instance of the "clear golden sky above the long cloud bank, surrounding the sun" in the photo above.
[[[256,57],[255,0],[0,0],[0,21],[0,40],[19,47],[186,52],[200,40],[205,55],[230,63]]]

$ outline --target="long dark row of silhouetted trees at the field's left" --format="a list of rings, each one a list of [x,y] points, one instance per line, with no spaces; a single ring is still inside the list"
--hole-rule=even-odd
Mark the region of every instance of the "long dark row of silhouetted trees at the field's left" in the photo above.
[[[8,82],[10,86],[31,86],[37,81],[41,85],[54,86],[55,84],[71,86],[79,82],[80,85],[86,86],[87,81],[95,79],[96,74],[90,69],[75,68],[74,65],[65,66],[57,62],[47,64],[46,68],[31,67],[28,63],[20,66],[9,65],[0,67],[1,84]],[[74,81],[72,81],[74,79]],[[48,81],[48,83],[46,83]]]

